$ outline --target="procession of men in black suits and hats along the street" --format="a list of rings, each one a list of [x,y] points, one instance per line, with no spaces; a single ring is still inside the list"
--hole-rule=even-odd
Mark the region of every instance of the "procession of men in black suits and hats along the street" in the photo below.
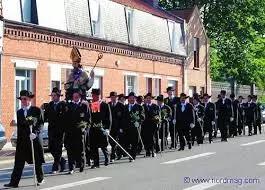
[[[209,143],[212,143],[215,128],[220,130],[223,142],[244,134],[245,126],[249,136],[262,132],[257,96],[249,95],[244,102],[242,96],[236,99],[231,94],[228,98],[226,91],[222,90],[217,102],[213,103],[208,94],[188,97],[181,93],[177,98],[173,95],[174,89],[169,87],[166,98],[163,95],[154,97],[151,93],[140,98],[134,92],[128,96],[111,92],[107,97],[110,101],[106,102],[101,99],[100,92],[100,89],[92,89],[92,99],[86,100],[77,89],[73,91],[71,101],[64,101],[60,100],[61,91],[54,88],[50,94],[51,102],[44,104],[41,110],[31,105],[34,97],[31,92],[21,91],[18,97],[22,107],[17,111],[15,165],[11,181],[5,186],[18,186],[25,162],[33,163],[32,155],[37,183],[43,183],[44,153],[40,131],[44,121],[49,124],[53,174],[66,168],[66,159],[62,157],[63,146],[67,151],[69,174],[74,174],[75,168],[83,172],[86,164],[92,164],[92,169],[100,167],[99,148],[107,166],[122,157],[132,162],[141,149],[145,150],[147,157],[155,157],[156,153],[167,148],[178,147],[178,151],[186,147],[191,149],[196,144],[205,143],[206,134]]]

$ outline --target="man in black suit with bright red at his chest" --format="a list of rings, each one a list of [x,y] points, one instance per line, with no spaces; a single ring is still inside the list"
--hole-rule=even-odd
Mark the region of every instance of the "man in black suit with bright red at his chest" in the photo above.
[[[89,130],[89,141],[91,147],[92,158],[94,164],[91,166],[92,169],[99,167],[99,152],[101,148],[105,163],[109,164],[108,156],[108,136],[111,128],[111,110],[109,104],[100,100],[100,89],[92,89],[92,102],[90,103],[91,110],[91,127]]]

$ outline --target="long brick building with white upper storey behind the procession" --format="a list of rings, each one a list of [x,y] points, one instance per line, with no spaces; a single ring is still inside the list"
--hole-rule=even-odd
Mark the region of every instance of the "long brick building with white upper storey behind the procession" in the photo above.
[[[167,86],[176,94],[188,93],[189,86],[210,90],[205,55],[198,69],[187,54],[194,29],[188,30],[200,19],[196,14],[186,25],[186,18],[162,10],[155,0],[3,0],[3,17],[0,119],[8,137],[19,91],[33,91],[37,106],[49,101],[51,89],[63,89],[72,68],[72,46],[80,49],[87,71],[103,52],[94,82],[103,98],[112,90],[154,95]],[[204,49],[202,44],[200,56]]]

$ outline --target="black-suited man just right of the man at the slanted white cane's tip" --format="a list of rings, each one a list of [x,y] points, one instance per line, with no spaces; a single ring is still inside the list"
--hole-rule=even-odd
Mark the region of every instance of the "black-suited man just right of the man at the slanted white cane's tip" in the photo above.
[[[143,141],[146,149],[146,156],[155,157],[154,149],[159,152],[158,144],[158,129],[160,124],[160,111],[156,104],[152,103],[153,96],[151,93],[147,93],[145,96],[144,113],[145,120],[142,125]]]

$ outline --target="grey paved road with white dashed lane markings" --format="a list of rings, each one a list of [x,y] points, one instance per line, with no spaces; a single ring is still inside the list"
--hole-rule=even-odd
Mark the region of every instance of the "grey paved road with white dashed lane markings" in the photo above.
[[[263,190],[265,189],[265,135],[244,136],[229,142],[168,151],[156,158],[139,156],[133,163],[121,160],[84,173],[51,176],[45,165],[45,190]],[[11,169],[0,170],[0,188]],[[20,189],[34,189],[32,170],[26,167]]]

